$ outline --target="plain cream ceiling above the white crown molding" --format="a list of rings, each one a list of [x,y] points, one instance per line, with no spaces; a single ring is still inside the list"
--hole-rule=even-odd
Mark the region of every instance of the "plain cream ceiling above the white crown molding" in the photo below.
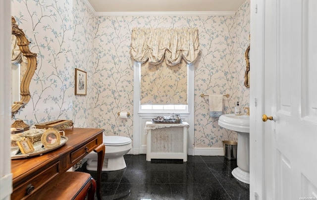
[[[96,12],[235,12],[246,0],[87,0]]]

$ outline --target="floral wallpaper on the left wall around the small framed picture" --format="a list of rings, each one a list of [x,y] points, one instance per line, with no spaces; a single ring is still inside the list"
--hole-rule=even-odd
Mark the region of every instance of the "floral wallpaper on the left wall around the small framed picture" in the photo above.
[[[30,50],[37,53],[31,100],[15,115],[30,126],[55,119],[72,119],[78,127],[91,126],[92,91],[87,90],[87,96],[74,96],[74,74],[79,68],[92,79],[94,16],[81,0],[70,2],[12,1],[12,16],[30,41]]]

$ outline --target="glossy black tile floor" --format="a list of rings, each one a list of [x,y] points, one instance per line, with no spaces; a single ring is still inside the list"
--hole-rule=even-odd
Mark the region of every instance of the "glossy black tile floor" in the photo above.
[[[125,155],[127,167],[102,173],[104,200],[249,200],[249,185],[236,180],[236,161],[223,156],[188,156],[183,160],[146,161]],[[86,169],[86,163],[77,171]]]

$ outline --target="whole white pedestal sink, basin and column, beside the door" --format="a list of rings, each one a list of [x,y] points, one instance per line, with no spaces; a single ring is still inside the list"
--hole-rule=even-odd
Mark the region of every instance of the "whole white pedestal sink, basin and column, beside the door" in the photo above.
[[[250,184],[250,116],[224,114],[219,117],[218,124],[238,133],[238,167],[231,174],[239,181]]]

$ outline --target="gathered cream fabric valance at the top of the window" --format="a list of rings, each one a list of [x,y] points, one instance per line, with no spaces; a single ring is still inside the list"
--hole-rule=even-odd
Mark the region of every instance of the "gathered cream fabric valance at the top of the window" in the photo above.
[[[134,28],[131,36],[131,53],[134,60],[174,66],[183,58],[193,63],[199,53],[197,28]]]

